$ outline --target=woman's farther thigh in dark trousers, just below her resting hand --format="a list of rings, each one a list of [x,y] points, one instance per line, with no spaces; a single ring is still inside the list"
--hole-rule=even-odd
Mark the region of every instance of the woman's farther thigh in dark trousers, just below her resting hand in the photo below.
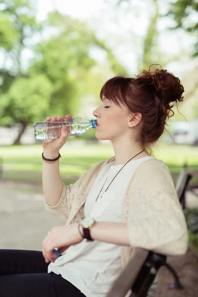
[[[0,275],[48,272],[42,251],[0,249]]]

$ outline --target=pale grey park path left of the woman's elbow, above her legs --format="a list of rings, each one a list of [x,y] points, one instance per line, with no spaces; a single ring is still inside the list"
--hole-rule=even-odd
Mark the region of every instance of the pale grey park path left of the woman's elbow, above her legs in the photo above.
[[[64,222],[46,211],[42,187],[0,180],[0,248],[41,250],[48,230]]]

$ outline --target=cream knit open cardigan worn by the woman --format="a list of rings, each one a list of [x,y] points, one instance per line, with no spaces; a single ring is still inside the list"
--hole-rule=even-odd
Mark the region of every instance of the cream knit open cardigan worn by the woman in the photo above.
[[[46,209],[66,222],[77,223],[99,171],[115,160],[111,157],[83,174],[75,184],[65,186],[58,203]],[[117,177],[119,178],[119,177]],[[136,169],[122,202],[122,219],[127,223],[130,246],[121,246],[122,269],[133,256],[134,247],[165,255],[185,254],[188,229],[171,173],[165,163],[148,159]]]

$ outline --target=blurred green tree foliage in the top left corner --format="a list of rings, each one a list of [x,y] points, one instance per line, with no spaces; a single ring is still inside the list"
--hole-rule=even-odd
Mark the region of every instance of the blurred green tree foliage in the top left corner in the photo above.
[[[32,49],[32,36],[39,30],[29,0],[1,1],[0,50],[4,59],[0,67],[1,93],[9,89],[16,77],[25,76],[22,55],[25,49]]]

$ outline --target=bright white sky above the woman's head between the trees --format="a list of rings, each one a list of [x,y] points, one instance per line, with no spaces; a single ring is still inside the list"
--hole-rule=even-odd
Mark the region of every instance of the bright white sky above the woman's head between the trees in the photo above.
[[[124,1],[116,8],[116,2],[117,0],[35,1],[39,20],[44,20],[49,11],[56,9],[74,19],[86,22],[89,28],[95,30],[97,37],[106,41],[107,46],[113,50],[119,62],[129,73],[137,74],[142,37],[146,34],[153,6],[151,0],[142,0],[131,1],[131,5]],[[159,12],[166,13],[169,1],[159,0],[158,3]],[[167,18],[158,22],[159,48],[164,55],[179,56],[179,61],[170,62],[167,70],[181,77],[195,65],[195,60],[189,59],[182,53],[191,51],[195,37],[189,36],[183,30],[168,31],[166,28],[172,23],[173,21]],[[100,62],[105,60],[102,52],[93,51],[92,55]]]

